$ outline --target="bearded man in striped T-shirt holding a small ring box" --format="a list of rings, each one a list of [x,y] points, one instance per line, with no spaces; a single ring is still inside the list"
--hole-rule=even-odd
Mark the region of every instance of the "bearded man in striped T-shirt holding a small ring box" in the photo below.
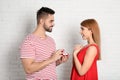
[[[54,11],[42,7],[37,12],[37,28],[29,34],[20,49],[27,80],[57,80],[56,66],[67,61],[63,49],[56,51],[54,40],[45,32],[52,32]]]

